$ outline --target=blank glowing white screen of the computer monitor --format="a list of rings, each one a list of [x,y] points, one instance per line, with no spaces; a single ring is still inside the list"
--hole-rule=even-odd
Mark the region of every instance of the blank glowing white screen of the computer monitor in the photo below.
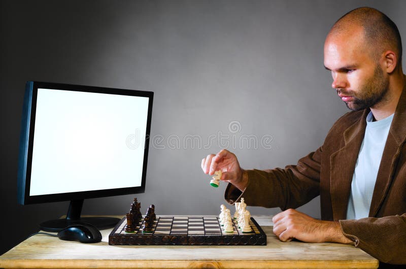
[[[147,114],[147,97],[38,89],[29,194],[141,186]]]

